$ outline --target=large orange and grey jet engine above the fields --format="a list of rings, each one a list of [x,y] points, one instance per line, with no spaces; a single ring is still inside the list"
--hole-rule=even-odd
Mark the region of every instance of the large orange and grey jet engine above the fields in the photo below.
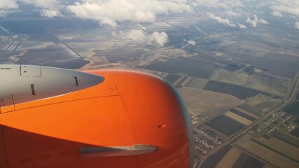
[[[188,111],[136,71],[0,65],[0,167],[193,167]]]

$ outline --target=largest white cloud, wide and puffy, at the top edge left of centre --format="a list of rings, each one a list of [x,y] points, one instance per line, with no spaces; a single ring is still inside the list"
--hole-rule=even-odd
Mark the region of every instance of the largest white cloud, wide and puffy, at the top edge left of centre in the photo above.
[[[185,0],[82,0],[67,9],[78,18],[98,20],[111,27],[117,22],[153,22],[157,15],[193,12]]]

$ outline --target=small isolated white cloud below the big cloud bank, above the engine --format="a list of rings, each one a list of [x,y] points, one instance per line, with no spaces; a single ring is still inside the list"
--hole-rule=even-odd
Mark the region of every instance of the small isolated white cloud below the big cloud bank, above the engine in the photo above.
[[[133,29],[130,33],[125,34],[127,38],[137,41],[139,43],[148,43],[152,45],[164,46],[168,43],[168,36],[165,32],[153,32],[153,34],[146,34],[142,30]]]

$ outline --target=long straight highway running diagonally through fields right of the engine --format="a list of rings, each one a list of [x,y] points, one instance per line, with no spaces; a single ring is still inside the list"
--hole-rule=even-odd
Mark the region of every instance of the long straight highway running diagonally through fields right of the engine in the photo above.
[[[204,157],[200,158],[199,160],[196,160],[196,162],[194,164],[194,168],[202,167],[202,164],[207,160],[207,158],[209,158],[209,156],[214,155],[219,150],[221,150],[221,148],[223,148],[224,146],[232,144],[233,141],[235,141],[239,137],[242,137],[242,135],[246,134],[247,131],[251,130],[254,126],[258,125],[258,123],[260,123],[262,120],[264,120],[268,116],[271,116],[272,114],[277,113],[277,112],[281,111],[282,109],[284,109],[286,106],[292,104],[295,101],[298,89],[299,89],[299,71],[297,72],[297,74],[293,80],[293,83],[291,84],[291,87],[289,87],[283,103],[277,104],[277,106],[272,107],[272,109],[269,110],[270,112],[268,112],[265,116],[259,118],[258,120],[251,123],[251,125],[249,125],[248,127],[245,127],[243,130],[232,135],[227,141],[225,141],[225,143],[223,143],[219,146],[216,146],[214,151],[211,151],[211,153],[208,153],[207,155],[204,155]]]

